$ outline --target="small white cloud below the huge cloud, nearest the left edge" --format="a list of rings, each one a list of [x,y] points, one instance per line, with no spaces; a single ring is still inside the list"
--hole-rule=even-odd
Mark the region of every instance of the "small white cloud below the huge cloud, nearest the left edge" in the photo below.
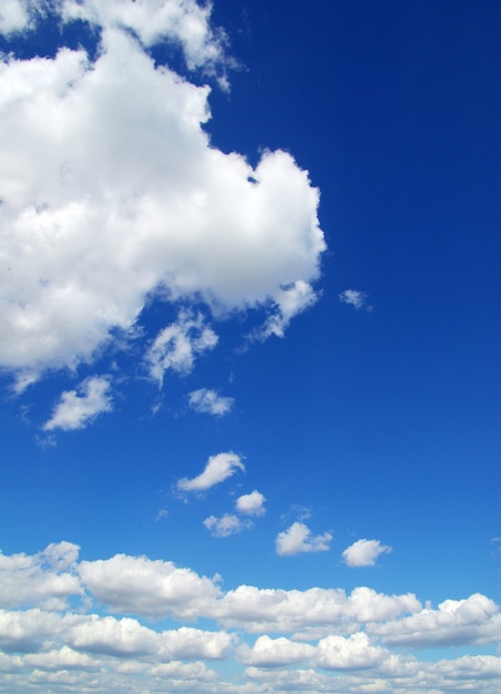
[[[61,395],[60,402],[43,429],[82,429],[98,415],[111,412],[112,409],[109,379],[94,376],[82,381],[76,390],[67,390]]]

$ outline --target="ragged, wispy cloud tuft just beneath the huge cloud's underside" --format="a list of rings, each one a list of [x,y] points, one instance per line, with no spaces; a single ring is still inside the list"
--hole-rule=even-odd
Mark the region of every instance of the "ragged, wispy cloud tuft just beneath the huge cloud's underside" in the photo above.
[[[177,323],[161,330],[150,347],[146,355],[150,374],[162,386],[167,369],[188,374],[195,356],[216,345],[217,335],[205,325],[202,314],[181,312]]]

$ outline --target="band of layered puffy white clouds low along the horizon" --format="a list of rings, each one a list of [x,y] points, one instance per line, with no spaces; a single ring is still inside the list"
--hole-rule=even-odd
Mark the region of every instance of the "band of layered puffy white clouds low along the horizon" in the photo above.
[[[45,684],[81,692],[99,682],[114,692],[144,676],[149,691],[168,681],[173,692],[207,693],[289,692],[299,682],[305,692],[349,693],[461,691],[464,682],[488,693],[499,685],[498,656],[430,663],[406,652],[497,643],[501,615],[481,594],[434,609],[411,593],[369,588],[223,590],[219,575],[170,561],[126,554],[84,561],[79,552],[60,542],[32,555],[0,554],[0,691]],[[215,627],[153,629],[141,621],[165,619],[211,620]],[[227,662],[245,669],[245,682],[221,671]]]

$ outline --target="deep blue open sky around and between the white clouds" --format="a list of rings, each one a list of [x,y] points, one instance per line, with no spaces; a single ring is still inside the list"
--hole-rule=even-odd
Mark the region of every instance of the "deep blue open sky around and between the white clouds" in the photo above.
[[[499,603],[499,4],[215,0],[211,21],[237,65],[227,92],[184,70],[211,84],[204,130],[253,166],[285,150],[309,172],[328,246],[318,278],[305,277],[319,298],[284,338],[260,340],[248,336],[268,305],[211,317],[193,297],[151,292],[135,337],[112,326],[90,359],[49,364],[21,395],[6,361],[0,549],[31,555],[65,540],[82,560],[124,553],[219,573],[225,591],[364,585],[433,608],[472,593]],[[55,30],[14,33],[2,47],[53,55],[57,40]],[[172,48],[154,50],[181,70]],[[9,244],[10,217],[1,224]],[[347,289],[361,293],[359,308],[340,300]],[[159,389],[144,353],[180,305],[202,310],[219,343]],[[104,374],[112,411],[43,429],[62,391]],[[231,411],[193,411],[188,394],[201,388],[233,398]],[[178,480],[223,451],[245,472],[180,496]],[[203,521],[234,513],[253,490],[266,514],[211,535]],[[329,550],[280,555],[277,535],[295,522],[329,533]],[[391,551],[354,568],[341,553],[360,539]],[[110,603],[93,610],[120,619]],[[461,654],[495,654],[495,637],[454,639]]]

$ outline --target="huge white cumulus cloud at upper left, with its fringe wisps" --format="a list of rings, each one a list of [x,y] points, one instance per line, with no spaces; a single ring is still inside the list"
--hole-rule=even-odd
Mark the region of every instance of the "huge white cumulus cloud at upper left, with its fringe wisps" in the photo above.
[[[4,2],[0,30],[22,28],[39,4]],[[286,152],[253,167],[212,147],[209,88],[147,53],[167,40],[191,68],[223,63],[209,6],[52,10],[91,22],[101,44],[95,58],[61,47],[0,63],[0,366],[28,382],[92,363],[155,298],[205,303],[219,318],[260,307],[265,333],[282,335],[316,297],[319,193]],[[215,341],[198,314],[181,315],[151,346],[152,377],[190,370]]]

